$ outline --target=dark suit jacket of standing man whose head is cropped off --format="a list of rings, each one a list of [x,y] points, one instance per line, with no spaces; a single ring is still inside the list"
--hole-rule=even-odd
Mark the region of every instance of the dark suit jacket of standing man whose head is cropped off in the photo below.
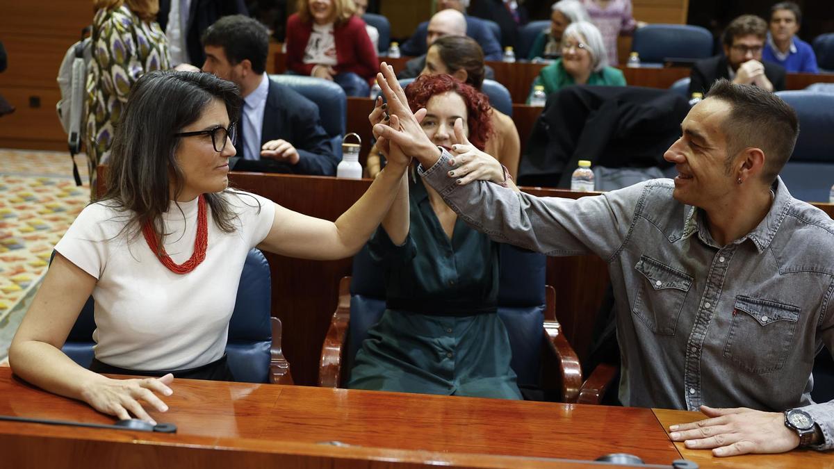
[[[159,0],[157,22],[163,31],[168,27],[168,14],[171,13],[172,1],[178,0]],[[249,16],[244,0],[191,0],[188,7],[188,27],[185,33],[188,63],[203,67],[203,62],[206,60],[203,52],[203,31],[220,17],[236,14]]]

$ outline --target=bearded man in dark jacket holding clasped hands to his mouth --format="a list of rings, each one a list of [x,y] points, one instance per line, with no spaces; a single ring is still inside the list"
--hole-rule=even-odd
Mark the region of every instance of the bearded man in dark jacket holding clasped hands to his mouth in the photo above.
[[[767,23],[755,15],[734,19],[724,31],[724,54],[698,61],[692,66],[689,93],[703,93],[718,78],[732,83],[752,84],[768,91],[785,89],[785,68],[761,60]]]

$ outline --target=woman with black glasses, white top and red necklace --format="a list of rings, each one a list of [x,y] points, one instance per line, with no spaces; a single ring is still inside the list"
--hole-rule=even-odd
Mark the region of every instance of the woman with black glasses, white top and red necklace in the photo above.
[[[47,391],[120,419],[152,421],[139,401],[174,376],[224,380],[229,319],[247,253],[314,260],[354,255],[404,181],[394,158],[335,222],[229,189],[235,154],[234,83],[208,73],[154,72],[133,87],[113,140],[108,192],[89,204],[56,255],[9,350],[13,371]],[[84,302],[95,300],[92,370],[61,346]],[[98,373],[160,376],[114,380]]]

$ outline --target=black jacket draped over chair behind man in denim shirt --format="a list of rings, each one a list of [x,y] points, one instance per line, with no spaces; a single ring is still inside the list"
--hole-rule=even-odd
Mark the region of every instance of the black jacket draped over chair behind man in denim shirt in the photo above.
[[[551,93],[519,167],[519,185],[570,187],[580,159],[607,168],[669,167],[686,98],[668,90],[570,86]]]

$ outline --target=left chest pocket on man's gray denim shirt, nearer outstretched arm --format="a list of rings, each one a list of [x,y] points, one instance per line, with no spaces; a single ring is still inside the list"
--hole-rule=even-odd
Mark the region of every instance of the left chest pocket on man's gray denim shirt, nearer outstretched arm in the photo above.
[[[634,268],[644,279],[631,312],[655,334],[675,335],[692,277],[646,255],[640,256]]]

